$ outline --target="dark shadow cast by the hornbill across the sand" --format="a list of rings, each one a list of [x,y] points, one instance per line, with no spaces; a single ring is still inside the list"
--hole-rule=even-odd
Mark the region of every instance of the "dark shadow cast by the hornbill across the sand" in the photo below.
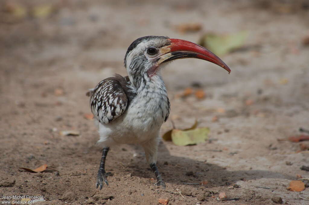
[[[143,150],[138,148],[138,152],[142,153]],[[248,167],[249,170],[228,170],[226,167],[214,163],[173,156],[163,143],[159,146],[157,165],[163,180],[176,185],[208,181],[210,183],[207,184],[207,187],[214,187],[226,186],[239,180],[248,181],[260,178],[294,179],[293,176],[268,170],[250,170],[250,167]],[[131,160],[126,171],[129,171],[132,176],[155,178],[154,173],[147,166],[144,156]]]

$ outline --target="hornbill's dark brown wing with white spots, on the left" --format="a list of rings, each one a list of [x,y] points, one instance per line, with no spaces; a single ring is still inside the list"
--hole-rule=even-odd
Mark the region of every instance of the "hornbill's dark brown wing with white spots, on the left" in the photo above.
[[[102,80],[93,90],[90,98],[91,112],[101,123],[109,123],[125,112],[127,96],[116,78]]]

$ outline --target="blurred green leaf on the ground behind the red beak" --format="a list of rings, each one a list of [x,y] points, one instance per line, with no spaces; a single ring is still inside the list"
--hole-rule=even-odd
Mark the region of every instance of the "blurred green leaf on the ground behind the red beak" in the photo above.
[[[216,55],[224,55],[233,49],[242,47],[247,37],[248,32],[246,31],[240,31],[230,35],[206,33],[201,37],[199,44]]]

